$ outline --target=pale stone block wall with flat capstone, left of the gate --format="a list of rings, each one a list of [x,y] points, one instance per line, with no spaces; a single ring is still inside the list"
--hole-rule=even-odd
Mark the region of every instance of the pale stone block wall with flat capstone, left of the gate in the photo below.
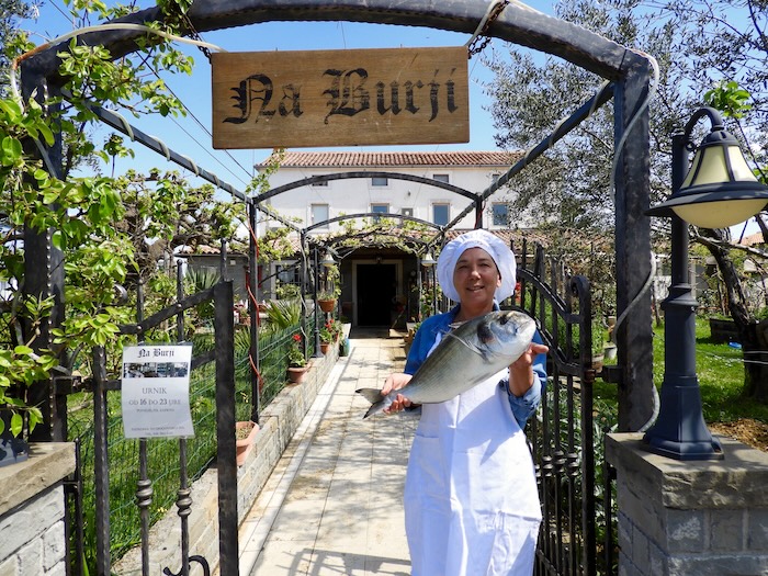
[[[30,458],[0,467],[0,575],[67,573],[63,481],[75,472],[75,444],[33,443]]]

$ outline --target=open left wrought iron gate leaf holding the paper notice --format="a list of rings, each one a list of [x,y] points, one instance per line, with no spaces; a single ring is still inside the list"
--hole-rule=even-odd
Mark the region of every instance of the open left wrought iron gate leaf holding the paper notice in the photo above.
[[[179,283],[179,285],[181,285]],[[143,318],[143,296],[139,290],[137,306],[137,323],[134,325],[121,326],[124,335],[135,335],[138,342],[145,339],[145,335],[151,329],[176,319],[176,331],[178,342],[184,341],[184,310],[206,303],[213,303],[213,346],[204,353],[193,355],[191,370],[202,369],[215,363],[215,422],[216,422],[216,470],[218,482],[218,560],[219,574],[222,576],[236,576],[238,574],[238,541],[237,541],[237,464],[235,448],[235,347],[234,347],[234,316],[233,316],[233,284],[230,281],[222,281],[213,287],[199,292],[188,297],[183,297],[179,289],[179,300],[176,304]],[[121,389],[121,380],[111,379],[108,375],[108,359],[103,348],[93,350],[93,377],[86,383],[86,388],[93,393],[93,482],[95,488],[95,571],[100,576],[108,576],[112,572],[111,565],[111,542],[113,542],[110,530],[110,420],[109,396],[111,393]],[[195,431],[196,432],[196,431]],[[112,438],[112,441],[114,439]],[[155,440],[138,440],[138,455],[135,462],[138,468],[138,482],[135,490],[135,506],[138,508],[140,521],[140,552],[142,552],[142,574],[150,574],[149,567],[149,507],[153,501],[153,483],[148,470],[148,443]],[[159,441],[159,440],[158,440]],[[189,541],[188,518],[191,513],[193,501],[190,498],[191,484],[188,474],[188,440],[178,441],[178,490],[176,506],[179,521],[181,523],[181,550],[178,558],[178,566],[167,566],[163,573],[169,576],[187,576],[191,564],[197,563],[202,566],[203,574],[211,574],[210,562],[200,554],[192,554]],[[78,456],[78,471],[82,470],[82,461]],[[172,464],[168,463],[171,467]],[[113,471],[114,473],[115,471]],[[70,487],[70,492],[76,493],[74,500],[77,513],[81,508],[81,489]],[[75,516],[74,515],[74,516]],[[70,516],[71,518],[71,516]],[[82,518],[77,518],[70,522],[75,527],[82,526]],[[74,557],[71,573],[83,574],[83,543],[82,535],[71,538],[74,543]],[[93,544],[92,544],[93,545]],[[178,569],[178,572],[176,572]]]

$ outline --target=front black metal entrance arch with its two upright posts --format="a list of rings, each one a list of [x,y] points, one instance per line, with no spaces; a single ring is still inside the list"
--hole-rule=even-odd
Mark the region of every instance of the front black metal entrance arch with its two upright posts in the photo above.
[[[241,26],[269,21],[351,21],[442,29],[472,34],[484,18],[487,3],[479,0],[199,0],[189,13],[194,31]],[[118,19],[117,22],[142,24],[161,21],[159,8],[151,8]],[[188,33],[193,33],[190,30]],[[594,34],[576,24],[542,14],[512,1],[490,22],[486,32],[513,44],[558,56],[612,82],[614,142],[623,140],[614,150],[615,159],[615,257],[617,312],[621,314],[641,293],[651,272],[651,225],[645,215],[650,206],[650,135],[648,109],[651,61],[641,54]],[[138,50],[135,31],[104,31],[80,36],[79,42],[103,45],[113,58]],[[30,98],[59,93],[58,52],[68,45],[41,50],[22,63],[22,93]],[[605,94],[603,94],[605,97]],[[631,124],[631,134],[625,132]],[[553,136],[555,136],[553,134]],[[48,150],[54,176],[60,174],[60,139]],[[530,161],[527,155],[527,161]],[[499,182],[498,185],[502,185]],[[484,194],[492,194],[486,190]],[[49,325],[64,318],[63,256],[52,245],[52,231],[32,233],[25,237],[25,292],[54,296],[56,305]],[[636,430],[653,411],[653,350],[651,296],[644,294],[633,306],[615,336],[619,347],[619,428]],[[50,339],[43,327],[41,340]],[[49,391],[31,389],[31,403],[47,405]],[[44,409],[45,413],[45,409]],[[45,427],[41,427],[45,428]],[[56,437],[56,430],[54,430]]]

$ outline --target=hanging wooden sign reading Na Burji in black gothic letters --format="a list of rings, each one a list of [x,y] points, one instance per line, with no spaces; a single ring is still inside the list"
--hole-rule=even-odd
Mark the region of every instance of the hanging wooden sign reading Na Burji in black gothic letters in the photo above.
[[[215,53],[213,147],[470,140],[466,47]]]

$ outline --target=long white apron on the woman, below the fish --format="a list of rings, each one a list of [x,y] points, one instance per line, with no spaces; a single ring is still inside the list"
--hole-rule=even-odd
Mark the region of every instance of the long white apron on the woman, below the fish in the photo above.
[[[411,576],[533,572],[541,507],[505,375],[421,407],[404,499]]]

